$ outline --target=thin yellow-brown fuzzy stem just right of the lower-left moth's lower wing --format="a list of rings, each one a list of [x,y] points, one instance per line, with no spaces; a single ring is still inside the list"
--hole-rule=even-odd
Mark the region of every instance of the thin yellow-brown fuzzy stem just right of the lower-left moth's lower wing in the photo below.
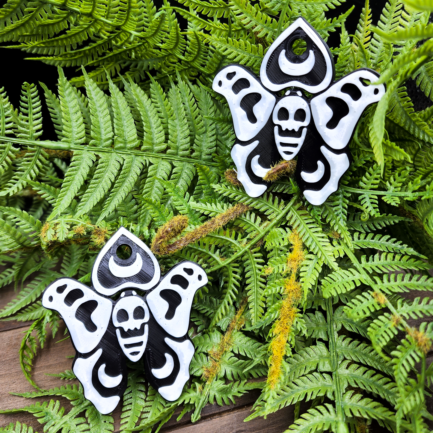
[[[244,326],[245,318],[243,313],[245,311],[248,299],[245,297],[239,306],[239,310],[227,326],[226,332],[221,337],[221,341],[216,348],[209,351],[210,365],[203,367],[203,378],[207,383],[213,381],[215,376],[220,372],[221,369],[221,357],[225,352],[231,349],[233,343],[233,332],[238,331]]]

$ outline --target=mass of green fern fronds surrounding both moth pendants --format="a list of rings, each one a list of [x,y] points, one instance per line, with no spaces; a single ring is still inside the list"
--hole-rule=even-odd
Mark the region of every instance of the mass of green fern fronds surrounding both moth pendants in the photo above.
[[[391,0],[373,26],[367,0],[355,35],[344,26],[352,8],[326,19],[337,0],[183,3],[8,0],[0,10],[3,42],[59,66],[56,93],[24,83],[14,108],[0,91],[0,281],[32,278],[0,317],[33,321],[19,355],[36,389],[19,395],[47,397],[19,410],[52,433],[113,430],[81,386],[40,388],[32,362],[47,325],[54,336],[59,323],[42,291],[61,276],[89,283],[97,252],[123,225],[166,269],[193,260],[210,282],[193,304],[192,380],[167,402],[131,364],[122,430],[150,432],[179,405],[194,422],[207,402],[260,388],[247,420],[294,404],[290,432],[429,431],[433,325],[410,320],[432,316],[433,301],[404,293],[433,290],[433,108],[415,111],[405,83],[433,99],[432,1]],[[325,40],[340,32],[337,78],[368,67],[387,85],[355,130],[351,168],[321,206],[300,194],[293,162],[271,169],[262,197],[243,191],[230,112],[210,90],[227,63],[257,72],[300,15]],[[62,66],[78,66],[77,77],[68,81]],[[42,104],[57,141],[43,140]],[[56,396],[71,400],[69,413]]]

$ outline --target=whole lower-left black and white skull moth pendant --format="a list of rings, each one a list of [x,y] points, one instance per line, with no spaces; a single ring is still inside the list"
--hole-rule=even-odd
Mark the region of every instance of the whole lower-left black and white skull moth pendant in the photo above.
[[[125,245],[132,254],[120,259],[116,251]],[[176,400],[190,377],[188,324],[194,294],[207,284],[204,269],[184,261],[161,277],[150,249],[120,227],[98,254],[92,283],[59,278],[42,295],[42,305],[68,326],[76,351],[72,370],[85,397],[101,414],[112,412],[126,389],[128,358],[143,359],[149,383]]]

